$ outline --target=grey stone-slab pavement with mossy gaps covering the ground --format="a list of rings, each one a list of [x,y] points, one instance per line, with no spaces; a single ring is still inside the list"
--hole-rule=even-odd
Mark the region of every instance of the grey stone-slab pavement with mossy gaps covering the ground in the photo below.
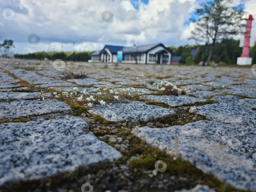
[[[19,181],[43,183],[40,179],[48,177],[62,183],[65,173],[71,174],[65,186],[74,186],[74,191],[82,183],[91,183],[96,191],[218,191],[219,186],[204,179],[208,174],[233,191],[256,191],[256,75],[250,67],[206,70],[164,65],[158,73],[152,65],[119,64],[105,69],[102,63],[67,62],[65,70],[87,74],[72,79],[64,78],[50,61],[36,62],[0,61],[0,190],[14,190],[12,183]],[[161,80],[188,88],[188,94],[162,95],[154,85]],[[140,97],[80,113],[73,105],[76,101],[38,100],[41,89],[52,95],[73,87],[94,94],[97,87],[135,87]],[[143,144],[136,143],[139,139]],[[144,156],[161,160],[147,152],[154,147],[161,157],[187,161],[203,174],[190,177],[161,171],[156,160],[134,167],[132,162]],[[81,169],[86,171],[77,171]],[[64,183],[52,183],[51,190],[69,191]]]

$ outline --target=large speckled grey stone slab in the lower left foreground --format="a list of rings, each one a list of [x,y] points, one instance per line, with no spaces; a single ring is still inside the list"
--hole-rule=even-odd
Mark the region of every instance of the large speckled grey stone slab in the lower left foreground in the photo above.
[[[113,162],[121,154],[89,131],[81,118],[0,125],[0,185],[40,179],[99,162]]]

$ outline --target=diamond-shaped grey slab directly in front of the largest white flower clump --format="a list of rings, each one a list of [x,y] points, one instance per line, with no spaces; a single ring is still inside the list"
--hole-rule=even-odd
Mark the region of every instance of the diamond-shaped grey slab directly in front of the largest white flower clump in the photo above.
[[[100,115],[107,120],[115,122],[148,122],[158,117],[175,114],[173,109],[166,109],[155,105],[147,105],[143,102],[110,103],[104,106],[93,107],[89,113]]]

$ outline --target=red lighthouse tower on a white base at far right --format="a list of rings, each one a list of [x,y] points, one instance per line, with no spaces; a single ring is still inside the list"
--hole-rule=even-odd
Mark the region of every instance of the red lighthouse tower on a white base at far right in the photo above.
[[[253,16],[249,15],[246,23],[246,31],[244,36],[244,45],[243,45],[243,52],[240,57],[237,58],[238,65],[251,65],[252,58],[250,58],[250,37],[251,37],[251,29],[252,29],[252,21]]]

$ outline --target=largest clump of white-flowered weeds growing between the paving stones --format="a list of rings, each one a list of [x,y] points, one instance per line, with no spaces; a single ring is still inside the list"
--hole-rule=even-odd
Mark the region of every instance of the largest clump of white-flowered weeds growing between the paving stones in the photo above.
[[[104,87],[98,87],[97,93],[88,93],[86,89],[82,92],[77,92],[77,87],[73,88],[73,92],[53,92],[53,95],[45,95],[44,91],[41,90],[41,94],[38,95],[42,100],[47,99],[59,99],[71,104],[72,102],[80,106],[92,107],[93,105],[106,105],[106,103],[122,102],[127,99],[135,98],[139,96],[139,92],[144,93],[145,91],[140,91],[136,88],[119,88],[117,90],[108,89]],[[38,99],[40,100],[40,99]],[[75,107],[76,108],[76,107]]]

